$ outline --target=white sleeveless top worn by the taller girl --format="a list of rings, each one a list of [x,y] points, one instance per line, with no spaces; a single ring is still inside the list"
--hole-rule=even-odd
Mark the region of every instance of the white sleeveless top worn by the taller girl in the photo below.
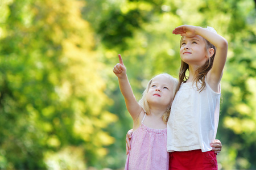
[[[198,91],[196,83],[181,84],[172,103],[167,123],[167,151],[212,150],[220,114],[220,91],[206,87]],[[200,84],[199,84],[200,86]]]

